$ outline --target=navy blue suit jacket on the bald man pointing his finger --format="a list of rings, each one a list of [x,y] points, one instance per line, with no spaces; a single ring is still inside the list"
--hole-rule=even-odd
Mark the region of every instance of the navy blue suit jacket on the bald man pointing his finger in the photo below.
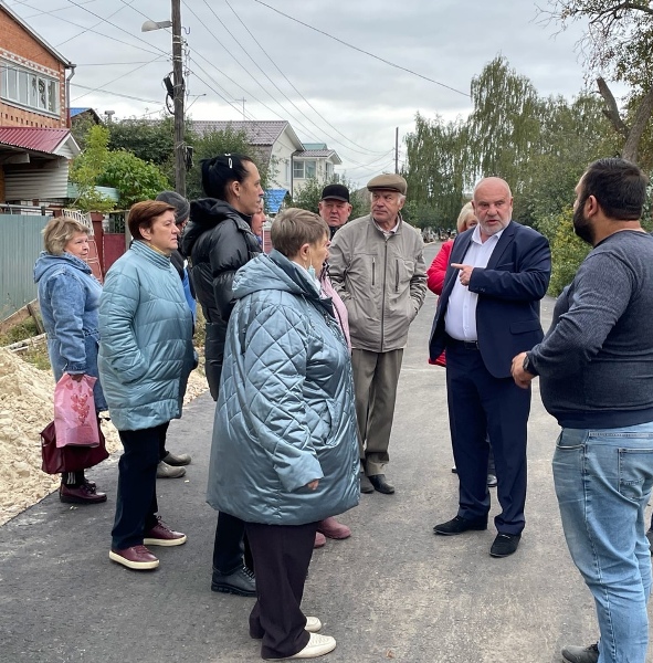
[[[465,262],[474,229],[460,234],[451,263]],[[513,357],[530,350],[544,337],[539,301],[551,275],[549,243],[539,232],[510,221],[494,249],[487,267],[476,267],[470,291],[478,294],[476,334],[487,370],[495,378],[510,377]],[[459,271],[449,266],[431,329],[429,352],[435,360],[445,347],[444,316]]]

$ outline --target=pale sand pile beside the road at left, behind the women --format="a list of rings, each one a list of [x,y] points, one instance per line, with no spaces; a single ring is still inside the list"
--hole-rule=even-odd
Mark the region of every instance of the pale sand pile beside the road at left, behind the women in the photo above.
[[[190,376],[186,401],[207,389],[199,371]],[[59,475],[41,471],[39,433],[52,421],[54,378],[0,348],[0,525],[57,488]],[[120,449],[118,433],[103,422],[109,453]]]

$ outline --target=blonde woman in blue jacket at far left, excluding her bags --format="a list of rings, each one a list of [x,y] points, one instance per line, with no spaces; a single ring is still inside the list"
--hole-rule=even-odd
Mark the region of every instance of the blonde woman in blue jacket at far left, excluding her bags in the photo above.
[[[43,230],[45,251],[34,265],[39,284],[39,305],[48,334],[48,355],[54,379],[64,373],[73,380],[97,372],[97,318],[102,285],[93,276],[88,259],[89,229],[70,217],[52,219]],[[96,412],[106,410],[99,380],[93,388]],[[84,470],[64,472],[59,498],[69,504],[106,502]]]

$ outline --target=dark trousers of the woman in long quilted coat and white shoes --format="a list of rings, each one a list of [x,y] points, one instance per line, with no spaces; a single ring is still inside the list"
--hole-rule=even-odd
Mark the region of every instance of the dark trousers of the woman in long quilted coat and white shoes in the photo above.
[[[284,659],[302,651],[310,634],[301,603],[317,523],[245,525],[256,567],[256,603],[250,635],[262,638],[263,659]]]

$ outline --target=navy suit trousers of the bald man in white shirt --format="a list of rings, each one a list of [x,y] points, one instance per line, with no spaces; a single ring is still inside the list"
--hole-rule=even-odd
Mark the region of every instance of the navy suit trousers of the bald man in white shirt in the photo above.
[[[452,344],[446,346],[446,391],[460,480],[457,515],[478,518],[489,512],[489,438],[503,509],[494,524],[499,533],[520,534],[525,525],[530,389],[520,389],[512,378],[495,378],[477,349]]]

